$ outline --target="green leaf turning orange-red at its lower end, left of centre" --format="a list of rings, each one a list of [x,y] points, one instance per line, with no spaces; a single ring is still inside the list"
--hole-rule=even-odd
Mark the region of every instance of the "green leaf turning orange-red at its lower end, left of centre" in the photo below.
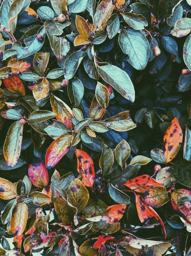
[[[56,118],[58,121],[63,122],[68,126],[69,129],[73,129],[73,113],[69,106],[64,103],[61,99],[51,94],[50,103],[53,109],[53,112],[56,113]]]

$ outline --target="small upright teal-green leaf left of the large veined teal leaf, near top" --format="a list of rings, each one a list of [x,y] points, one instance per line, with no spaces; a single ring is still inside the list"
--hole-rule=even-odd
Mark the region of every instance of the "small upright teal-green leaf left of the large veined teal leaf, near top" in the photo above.
[[[111,15],[111,17],[107,20],[107,32],[109,39],[113,38],[117,35],[120,27],[119,16],[117,14]]]

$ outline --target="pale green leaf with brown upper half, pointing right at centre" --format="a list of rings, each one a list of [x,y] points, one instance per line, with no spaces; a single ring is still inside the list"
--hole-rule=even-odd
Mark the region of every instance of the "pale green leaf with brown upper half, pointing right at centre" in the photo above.
[[[129,117],[129,111],[121,112],[116,116],[103,120],[102,122],[107,127],[119,132],[128,131],[136,127]]]

